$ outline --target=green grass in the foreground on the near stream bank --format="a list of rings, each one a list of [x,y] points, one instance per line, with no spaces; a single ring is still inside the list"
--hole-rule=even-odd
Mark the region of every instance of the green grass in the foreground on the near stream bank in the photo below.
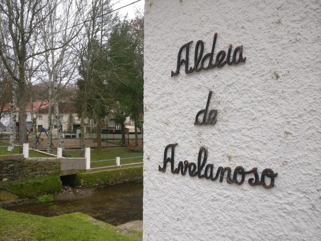
[[[99,226],[82,213],[65,214],[57,217],[42,217],[7,211],[0,208],[0,239],[3,241],[134,241],[111,225]]]

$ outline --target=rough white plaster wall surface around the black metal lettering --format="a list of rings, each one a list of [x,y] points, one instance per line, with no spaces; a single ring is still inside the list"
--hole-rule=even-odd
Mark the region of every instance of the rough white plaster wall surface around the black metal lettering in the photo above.
[[[321,240],[320,5],[145,0],[144,241]],[[179,48],[194,41],[192,63],[214,32],[214,56],[243,45],[246,62],[170,77]],[[194,126],[210,90],[217,123]],[[171,143],[175,166],[205,146],[214,168],[273,169],[275,187],[159,172]]]

